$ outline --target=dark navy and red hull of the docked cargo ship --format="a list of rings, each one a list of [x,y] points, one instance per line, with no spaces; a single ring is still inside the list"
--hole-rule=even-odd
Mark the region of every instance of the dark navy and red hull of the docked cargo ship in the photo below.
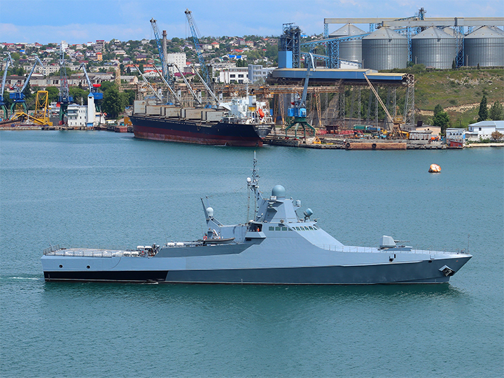
[[[195,122],[178,118],[130,116],[135,138],[217,146],[262,146],[273,125]]]

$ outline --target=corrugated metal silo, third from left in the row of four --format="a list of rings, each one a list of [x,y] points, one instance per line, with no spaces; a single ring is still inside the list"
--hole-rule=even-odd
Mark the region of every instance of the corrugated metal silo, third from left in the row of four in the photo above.
[[[456,59],[456,38],[437,27],[412,36],[412,62],[449,69]]]

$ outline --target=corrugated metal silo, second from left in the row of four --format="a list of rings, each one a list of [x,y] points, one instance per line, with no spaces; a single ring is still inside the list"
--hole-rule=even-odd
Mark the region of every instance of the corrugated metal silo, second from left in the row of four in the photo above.
[[[382,27],[363,38],[363,68],[404,69],[408,59],[407,37]]]

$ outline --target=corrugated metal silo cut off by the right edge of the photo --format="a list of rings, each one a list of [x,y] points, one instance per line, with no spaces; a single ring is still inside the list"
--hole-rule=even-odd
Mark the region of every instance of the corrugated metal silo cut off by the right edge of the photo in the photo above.
[[[504,66],[504,35],[490,27],[480,27],[464,38],[467,66]]]

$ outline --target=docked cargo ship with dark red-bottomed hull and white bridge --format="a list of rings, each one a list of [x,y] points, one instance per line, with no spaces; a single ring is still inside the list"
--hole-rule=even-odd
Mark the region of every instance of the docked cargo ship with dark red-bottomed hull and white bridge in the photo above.
[[[274,127],[265,102],[255,96],[221,102],[217,109],[134,102],[135,138],[216,146],[262,146]]]

